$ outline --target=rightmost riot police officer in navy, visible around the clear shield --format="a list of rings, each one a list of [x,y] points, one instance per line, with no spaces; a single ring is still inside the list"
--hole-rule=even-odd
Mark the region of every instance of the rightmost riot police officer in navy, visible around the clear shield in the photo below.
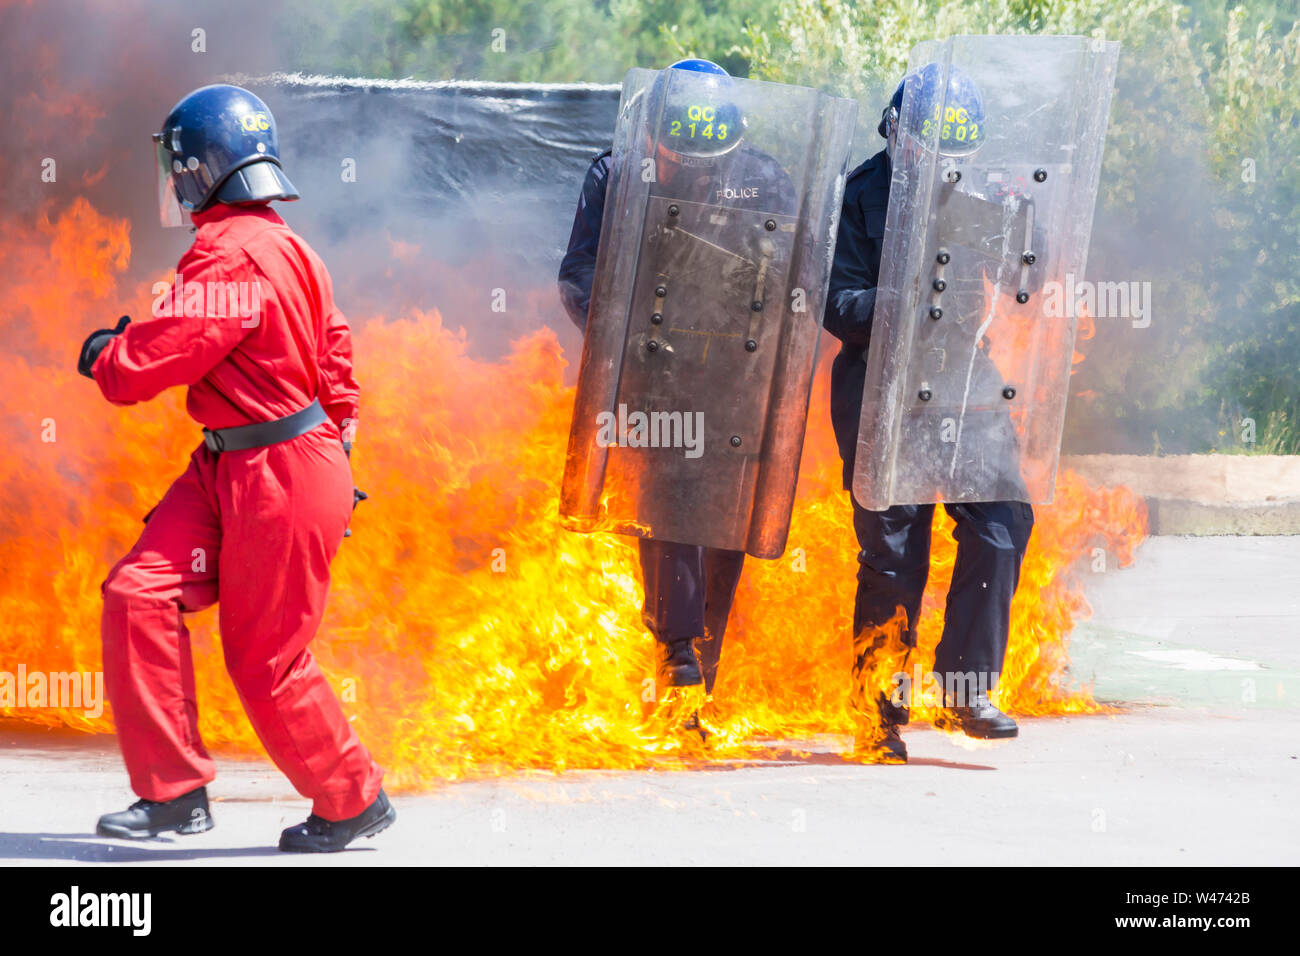
[[[923,116],[931,113],[932,104],[945,101],[961,120],[944,125],[937,137],[941,155],[970,153],[984,140],[984,104],[976,85],[953,66],[945,99],[942,72],[931,64],[898,85],[878,127],[887,147],[853,170],[845,185],[826,328],[841,341],[832,365],[831,416],[846,489],[852,486],[858,451],[885,213],[900,148],[898,117],[904,91],[911,83],[920,85]],[[909,143],[904,148],[916,147]],[[890,676],[905,670],[907,653],[916,644],[916,620],[930,572],[933,509],[933,505],[896,505],[868,511],[853,501],[853,524],[862,549],[853,614],[853,710],[855,753],[868,762],[907,760],[900,734],[907,722],[907,701],[900,700]],[[940,723],[972,737],[1011,737],[1018,732],[1015,721],[993,706],[988,689],[1002,667],[1011,596],[1034,527],[1034,511],[1020,501],[949,503],[945,509],[957,523],[953,532],[957,561],[935,661],[936,678],[944,688]],[[959,676],[966,674],[983,674],[988,680],[967,688]],[[963,693],[952,693],[954,687]]]

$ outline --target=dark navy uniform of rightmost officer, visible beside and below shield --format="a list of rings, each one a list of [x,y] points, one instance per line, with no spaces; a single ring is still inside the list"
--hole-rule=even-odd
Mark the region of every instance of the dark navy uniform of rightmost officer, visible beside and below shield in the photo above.
[[[853,480],[890,176],[884,150],[849,174],[831,271],[826,328],[842,342],[831,368],[831,419],[844,459],[845,489]],[[944,507],[957,522],[957,563],[935,671],[997,674],[1006,653],[1011,596],[1034,528],[1034,509],[1018,501]],[[933,512],[933,505],[867,511],[853,502],[853,527],[862,549],[853,613],[855,636],[883,627],[902,607],[907,619],[905,640],[915,646],[920,598],[930,575]]]

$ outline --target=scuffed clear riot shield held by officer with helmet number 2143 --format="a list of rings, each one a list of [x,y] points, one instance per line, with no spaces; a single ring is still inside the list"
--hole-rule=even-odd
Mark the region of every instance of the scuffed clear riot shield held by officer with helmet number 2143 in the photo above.
[[[785,549],[857,105],[628,72],[560,514]]]

